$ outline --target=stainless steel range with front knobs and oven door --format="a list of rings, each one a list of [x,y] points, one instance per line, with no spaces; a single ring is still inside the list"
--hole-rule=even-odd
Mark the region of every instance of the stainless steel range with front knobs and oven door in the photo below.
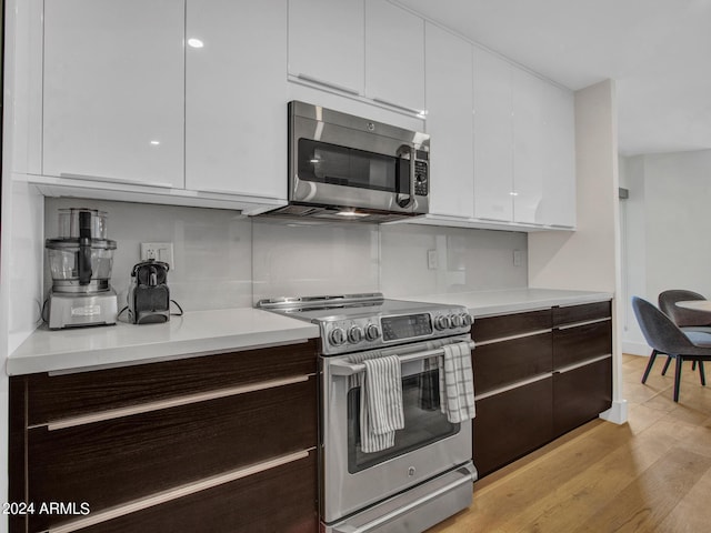
[[[471,420],[450,421],[441,409],[447,399],[440,401],[443,353],[461,350],[469,358],[473,348],[465,308],[380,293],[262,300],[258,306],[321,329],[322,532],[415,533],[471,504]],[[394,361],[403,421],[390,442],[373,446],[373,435],[364,434],[363,415],[372,409],[363,403],[370,396],[363,383],[375,359]]]

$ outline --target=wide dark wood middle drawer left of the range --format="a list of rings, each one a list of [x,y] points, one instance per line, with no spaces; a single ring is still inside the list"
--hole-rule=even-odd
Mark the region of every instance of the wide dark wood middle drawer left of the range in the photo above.
[[[29,496],[88,502],[96,513],[316,446],[317,412],[312,375],[291,385],[67,429],[30,429]],[[31,531],[52,525],[51,520],[57,517],[30,517]]]

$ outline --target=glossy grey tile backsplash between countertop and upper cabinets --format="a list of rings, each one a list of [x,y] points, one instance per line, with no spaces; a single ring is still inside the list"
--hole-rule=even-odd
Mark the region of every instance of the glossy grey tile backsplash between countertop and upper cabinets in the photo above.
[[[276,296],[380,291],[403,298],[528,284],[525,233],[248,219],[217,209],[47,198],[47,238],[58,234],[57,210],[70,207],[108,213],[120,306],[141,242],[173,243],[168,284],[187,311],[251,306]],[[513,264],[514,251],[521,265]],[[47,266],[44,272],[48,291]]]

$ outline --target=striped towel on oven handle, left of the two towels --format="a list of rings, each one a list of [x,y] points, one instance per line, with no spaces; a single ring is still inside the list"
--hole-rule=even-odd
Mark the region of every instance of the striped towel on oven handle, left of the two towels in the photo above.
[[[361,362],[361,361],[352,361]],[[402,376],[397,355],[365,359],[365,371],[354,375],[360,385],[360,444],[364,453],[395,444],[395,431],[404,428]]]

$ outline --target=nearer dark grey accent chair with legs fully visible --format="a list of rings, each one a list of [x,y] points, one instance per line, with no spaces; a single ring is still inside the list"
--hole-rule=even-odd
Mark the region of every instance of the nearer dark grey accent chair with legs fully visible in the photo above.
[[[632,296],[632,309],[640,324],[647,343],[654,350],[644,370],[642,383],[647,381],[658,353],[665,353],[677,360],[677,375],[674,375],[674,402],[679,401],[681,385],[681,368],[684,361],[699,363],[701,384],[707,384],[703,361],[711,361],[711,334],[689,331],[683,332],[672,320],[639,296]]]

